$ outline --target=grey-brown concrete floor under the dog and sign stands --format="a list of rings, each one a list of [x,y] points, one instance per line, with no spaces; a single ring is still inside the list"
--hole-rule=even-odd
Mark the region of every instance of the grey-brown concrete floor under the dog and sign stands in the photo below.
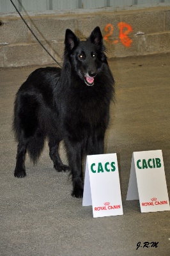
[[[93,218],[92,207],[72,198],[68,173],[58,173],[47,145],[37,166],[26,159],[27,177],[13,177],[16,143],[13,100],[35,67],[1,68],[0,255],[133,256],[169,255],[169,211],[141,213],[126,201],[132,152],[162,149],[170,191],[170,55],[109,61],[116,80],[116,106],[106,136],[106,152],[118,154],[122,216]],[[65,160],[63,149],[61,154]],[[158,242],[157,248],[137,243]]]

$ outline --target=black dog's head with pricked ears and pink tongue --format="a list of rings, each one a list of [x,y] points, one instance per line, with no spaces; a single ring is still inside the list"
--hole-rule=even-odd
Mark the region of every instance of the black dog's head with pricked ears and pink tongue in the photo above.
[[[103,36],[99,27],[91,32],[86,41],[79,40],[70,29],[66,29],[65,58],[70,61],[72,71],[88,86],[95,83],[95,77],[103,63],[107,64],[104,51]]]

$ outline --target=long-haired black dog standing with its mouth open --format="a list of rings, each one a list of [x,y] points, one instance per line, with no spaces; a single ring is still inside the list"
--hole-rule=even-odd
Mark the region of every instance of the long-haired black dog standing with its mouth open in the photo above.
[[[104,51],[100,28],[86,41],[66,29],[63,68],[38,68],[22,84],[13,120],[19,142],[15,177],[26,176],[26,151],[35,163],[45,138],[54,168],[68,170],[58,154],[63,140],[72,173],[72,196],[82,197],[82,157],[104,154],[109,105],[114,98],[114,79]]]

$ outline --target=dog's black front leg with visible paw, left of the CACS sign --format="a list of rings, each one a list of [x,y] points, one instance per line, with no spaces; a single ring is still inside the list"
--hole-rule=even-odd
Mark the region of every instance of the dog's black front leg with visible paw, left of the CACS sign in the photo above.
[[[68,154],[69,166],[72,173],[73,191],[72,196],[82,198],[82,142],[65,140],[66,151]]]

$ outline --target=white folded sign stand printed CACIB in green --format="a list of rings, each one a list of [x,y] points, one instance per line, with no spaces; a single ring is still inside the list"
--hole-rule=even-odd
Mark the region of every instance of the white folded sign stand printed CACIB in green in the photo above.
[[[139,200],[141,212],[170,210],[162,150],[133,153],[127,200]]]

